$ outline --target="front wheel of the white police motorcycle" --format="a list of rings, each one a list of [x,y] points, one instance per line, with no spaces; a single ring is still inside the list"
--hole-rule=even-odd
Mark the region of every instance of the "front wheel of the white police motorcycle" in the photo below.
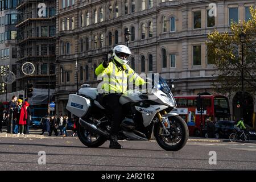
[[[166,135],[162,123],[159,121],[154,125],[154,135],[159,146],[167,151],[178,151],[185,146],[188,140],[187,123],[179,116],[169,118],[171,127],[168,129],[170,135]]]

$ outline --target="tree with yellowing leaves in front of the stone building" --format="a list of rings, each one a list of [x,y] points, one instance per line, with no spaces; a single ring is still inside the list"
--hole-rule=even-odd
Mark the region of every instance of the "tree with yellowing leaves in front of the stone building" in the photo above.
[[[208,57],[217,68],[213,86],[218,93],[226,94],[241,90],[241,42],[240,34],[246,34],[243,61],[244,91],[256,92],[256,10],[250,8],[251,18],[232,23],[229,32],[214,31],[208,35]],[[209,60],[209,59],[208,59]]]

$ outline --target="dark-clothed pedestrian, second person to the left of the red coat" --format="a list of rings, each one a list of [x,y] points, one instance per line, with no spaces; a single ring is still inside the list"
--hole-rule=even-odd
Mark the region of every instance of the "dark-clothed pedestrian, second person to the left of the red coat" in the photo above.
[[[9,117],[9,122],[7,125],[7,133],[15,133],[14,110],[16,107],[16,101],[17,101],[17,97],[13,96],[11,98],[11,101],[9,102],[8,115],[7,115]],[[13,131],[11,131],[11,125],[13,125]]]

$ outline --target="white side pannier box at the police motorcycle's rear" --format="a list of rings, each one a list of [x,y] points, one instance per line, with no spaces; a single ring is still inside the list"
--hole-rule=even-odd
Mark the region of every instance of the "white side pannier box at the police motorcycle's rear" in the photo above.
[[[66,109],[77,117],[83,117],[90,107],[90,100],[88,98],[77,96],[76,94],[69,94],[68,104]]]

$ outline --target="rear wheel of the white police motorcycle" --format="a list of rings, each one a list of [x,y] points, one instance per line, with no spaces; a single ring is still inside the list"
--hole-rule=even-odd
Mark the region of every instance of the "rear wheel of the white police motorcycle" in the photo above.
[[[79,137],[82,144],[87,147],[100,147],[106,142],[106,138],[104,136],[91,133],[81,125],[77,127],[77,136]]]

